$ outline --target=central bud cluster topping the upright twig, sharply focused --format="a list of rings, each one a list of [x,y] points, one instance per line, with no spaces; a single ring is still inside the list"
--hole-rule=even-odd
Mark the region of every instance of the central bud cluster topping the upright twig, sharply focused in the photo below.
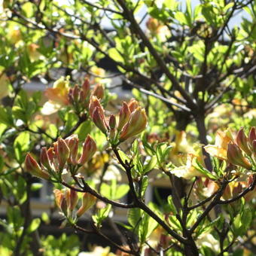
[[[105,117],[105,110],[96,96],[90,99],[89,114],[99,130],[108,136],[111,145],[118,145],[142,133],[147,125],[145,109],[141,108],[135,99],[131,99],[129,103],[123,102],[118,114],[118,122],[114,114],[108,119]]]

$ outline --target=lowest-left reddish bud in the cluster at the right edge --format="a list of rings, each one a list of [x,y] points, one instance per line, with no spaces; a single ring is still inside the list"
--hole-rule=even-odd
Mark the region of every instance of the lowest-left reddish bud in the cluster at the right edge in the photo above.
[[[243,157],[242,150],[238,145],[229,143],[227,146],[227,160],[235,166],[242,166],[245,169],[251,169],[251,163]]]

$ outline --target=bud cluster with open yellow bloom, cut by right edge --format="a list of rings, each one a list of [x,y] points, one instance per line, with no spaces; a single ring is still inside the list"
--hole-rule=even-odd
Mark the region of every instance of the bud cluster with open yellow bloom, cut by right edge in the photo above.
[[[230,131],[218,132],[215,145],[207,145],[205,149],[213,157],[226,160],[234,166],[252,169],[256,157],[256,128],[251,127],[248,137],[243,128],[235,138]]]

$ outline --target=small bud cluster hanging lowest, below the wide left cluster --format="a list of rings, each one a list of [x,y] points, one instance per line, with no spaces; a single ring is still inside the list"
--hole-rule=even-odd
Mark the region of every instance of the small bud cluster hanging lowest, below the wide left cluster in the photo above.
[[[56,206],[60,209],[60,211],[67,217],[81,217],[84,212],[87,212],[90,207],[92,207],[96,203],[96,197],[89,193],[82,193],[81,197],[81,206],[76,210],[78,206],[78,192],[74,189],[66,189],[66,190],[53,190]]]

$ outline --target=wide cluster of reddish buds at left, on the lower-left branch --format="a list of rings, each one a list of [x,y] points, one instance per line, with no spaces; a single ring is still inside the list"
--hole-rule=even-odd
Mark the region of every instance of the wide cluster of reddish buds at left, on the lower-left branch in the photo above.
[[[78,145],[77,135],[69,136],[66,139],[59,138],[57,142],[53,143],[53,147],[41,149],[41,165],[31,154],[27,154],[25,168],[32,175],[45,179],[59,180],[62,171],[67,169],[67,166],[70,167],[72,174],[75,174],[78,167],[87,163],[96,152],[96,143],[89,135],[85,139],[81,155],[78,155]]]

